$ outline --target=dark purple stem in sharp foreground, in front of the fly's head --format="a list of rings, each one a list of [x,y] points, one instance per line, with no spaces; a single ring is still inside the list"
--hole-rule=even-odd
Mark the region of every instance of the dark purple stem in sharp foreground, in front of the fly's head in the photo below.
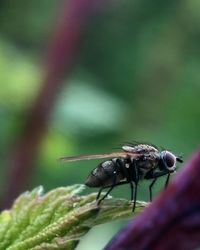
[[[200,246],[200,151],[106,250],[190,250]]]

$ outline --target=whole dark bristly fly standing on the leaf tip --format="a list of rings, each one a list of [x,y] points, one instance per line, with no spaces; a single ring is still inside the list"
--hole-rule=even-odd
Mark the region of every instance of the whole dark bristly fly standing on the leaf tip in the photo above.
[[[83,155],[78,157],[64,157],[63,161],[105,159],[89,174],[85,184],[89,187],[99,187],[97,195],[98,204],[116,186],[129,184],[131,188],[131,200],[133,211],[137,199],[138,182],[146,179],[152,180],[149,191],[150,201],[152,200],[152,187],[158,177],[167,175],[165,187],[169,182],[170,174],[176,170],[176,161],[182,162],[180,157],[172,152],[148,144],[129,144],[122,147],[123,152],[99,155]],[[108,188],[107,193],[100,198],[103,189]]]

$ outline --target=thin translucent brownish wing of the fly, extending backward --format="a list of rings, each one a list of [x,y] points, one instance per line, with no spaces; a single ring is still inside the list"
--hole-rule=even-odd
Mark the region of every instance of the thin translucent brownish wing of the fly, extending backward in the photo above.
[[[79,155],[79,156],[69,156],[62,157],[59,160],[61,162],[70,162],[70,161],[83,161],[83,160],[96,160],[96,159],[106,159],[106,158],[126,158],[127,156],[138,156],[136,153],[131,152],[113,152],[109,154],[95,154],[95,155]]]

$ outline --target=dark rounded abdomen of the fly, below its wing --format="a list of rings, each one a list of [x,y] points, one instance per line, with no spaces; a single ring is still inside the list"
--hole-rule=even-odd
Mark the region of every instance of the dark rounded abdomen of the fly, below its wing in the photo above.
[[[100,163],[88,176],[85,184],[88,187],[104,187],[118,183],[122,179],[112,160]]]

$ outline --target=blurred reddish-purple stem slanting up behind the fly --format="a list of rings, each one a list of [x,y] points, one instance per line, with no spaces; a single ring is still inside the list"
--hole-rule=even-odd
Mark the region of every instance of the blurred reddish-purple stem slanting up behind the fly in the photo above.
[[[30,180],[34,160],[58,92],[74,66],[81,35],[93,13],[94,0],[64,0],[60,20],[47,50],[41,90],[29,110],[24,130],[11,154],[8,186],[1,208],[11,205]]]

